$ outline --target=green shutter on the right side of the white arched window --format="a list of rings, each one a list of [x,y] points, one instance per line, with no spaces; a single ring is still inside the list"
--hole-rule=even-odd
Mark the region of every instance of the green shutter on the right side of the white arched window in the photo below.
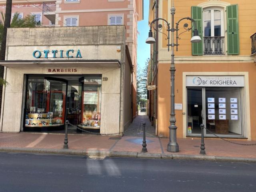
[[[227,6],[228,55],[239,54],[238,5]]]

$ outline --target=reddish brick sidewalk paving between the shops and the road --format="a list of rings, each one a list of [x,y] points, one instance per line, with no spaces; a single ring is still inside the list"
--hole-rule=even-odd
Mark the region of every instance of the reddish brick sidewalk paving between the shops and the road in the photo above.
[[[140,129],[136,126],[141,121],[146,121],[146,140],[148,153],[157,154],[184,154],[199,155],[200,138],[177,139],[180,151],[170,153],[167,151],[168,138],[154,136],[154,128],[146,116],[138,116],[124,136],[101,136],[88,134],[69,134],[68,146],[70,150],[98,150],[98,151],[119,151],[119,152],[141,152],[142,134],[137,134]],[[135,129],[133,129],[135,128]],[[135,136],[134,136],[135,135]],[[253,144],[256,141],[232,140],[243,144]],[[35,148],[35,149],[62,149],[64,134],[52,133],[4,133],[0,132],[0,148]],[[206,156],[223,156],[237,158],[256,158],[256,145],[241,146],[231,144],[218,138],[205,138]]]

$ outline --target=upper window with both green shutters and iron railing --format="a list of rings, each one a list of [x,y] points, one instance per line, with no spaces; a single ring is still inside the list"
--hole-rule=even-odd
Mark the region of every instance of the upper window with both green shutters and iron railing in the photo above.
[[[192,6],[191,14],[202,39],[202,42],[192,43],[192,55],[239,54],[237,4],[220,6],[220,8],[210,6],[204,9],[200,6]]]

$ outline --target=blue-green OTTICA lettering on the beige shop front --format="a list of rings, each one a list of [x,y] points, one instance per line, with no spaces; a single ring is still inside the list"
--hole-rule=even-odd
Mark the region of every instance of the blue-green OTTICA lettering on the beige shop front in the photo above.
[[[38,58],[82,58],[82,54],[81,54],[81,51],[78,49],[77,51],[76,50],[73,50],[73,49],[70,49],[70,50],[67,50],[67,51],[64,51],[64,50],[52,50],[50,52],[50,50],[44,50],[44,51],[39,51],[39,50],[35,50],[33,52],[33,57],[38,59]]]

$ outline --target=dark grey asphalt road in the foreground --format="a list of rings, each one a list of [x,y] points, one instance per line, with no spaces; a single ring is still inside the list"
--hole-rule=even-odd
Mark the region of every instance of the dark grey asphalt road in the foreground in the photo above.
[[[256,164],[0,153],[0,192],[255,192]]]

